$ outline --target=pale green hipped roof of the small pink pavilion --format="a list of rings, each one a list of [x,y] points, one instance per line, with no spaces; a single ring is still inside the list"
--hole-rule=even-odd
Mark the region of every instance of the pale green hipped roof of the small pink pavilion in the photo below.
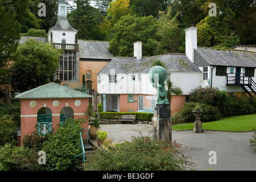
[[[89,98],[93,97],[77,90],[51,82],[18,94],[15,98]]]

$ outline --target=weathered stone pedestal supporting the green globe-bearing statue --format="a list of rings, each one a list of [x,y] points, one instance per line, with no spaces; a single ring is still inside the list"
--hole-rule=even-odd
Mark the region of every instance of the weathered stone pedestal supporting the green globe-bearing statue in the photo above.
[[[156,104],[153,123],[153,139],[172,140],[172,121],[170,104]]]

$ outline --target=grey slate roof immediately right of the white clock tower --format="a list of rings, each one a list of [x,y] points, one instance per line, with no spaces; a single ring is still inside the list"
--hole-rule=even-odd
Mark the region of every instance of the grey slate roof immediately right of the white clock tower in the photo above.
[[[109,51],[109,42],[97,40],[78,40],[80,58],[112,60],[114,56]]]

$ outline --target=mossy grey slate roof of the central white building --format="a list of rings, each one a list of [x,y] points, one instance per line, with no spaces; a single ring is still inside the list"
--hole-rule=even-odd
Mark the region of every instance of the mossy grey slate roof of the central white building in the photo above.
[[[166,63],[167,72],[201,72],[197,66],[192,63],[185,54],[166,54],[152,57],[114,57],[100,72],[110,74],[110,69],[115,69],[118,73],[148,73],[150,65],[154,60],[162,60]]]

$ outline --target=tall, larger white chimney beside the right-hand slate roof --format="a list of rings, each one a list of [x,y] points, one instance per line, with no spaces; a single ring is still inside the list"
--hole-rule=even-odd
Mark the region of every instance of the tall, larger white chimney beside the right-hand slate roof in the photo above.
[[[186,55],[194,63],[194,49],[197,49],[197,28],[185,29],[186,34]]]

